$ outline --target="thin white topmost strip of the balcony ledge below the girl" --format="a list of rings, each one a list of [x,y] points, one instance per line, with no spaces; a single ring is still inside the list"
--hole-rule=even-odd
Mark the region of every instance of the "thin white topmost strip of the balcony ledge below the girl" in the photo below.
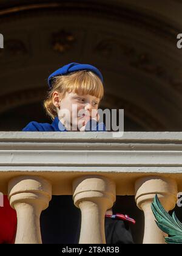
[[[180,142],[182,144],[182,132],[124,132],[123,137],[114,138],[112,132],[0,132],[0,143],[5,141],[156,141],[165,143]],[[91,141],[90,141],[91,142]]]

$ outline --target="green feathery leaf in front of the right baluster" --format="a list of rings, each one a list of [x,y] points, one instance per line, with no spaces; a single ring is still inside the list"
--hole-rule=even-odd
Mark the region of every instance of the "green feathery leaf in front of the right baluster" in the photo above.
[[[182,224],[178,220],[175,213],[172,216],[166,212],[166,210],[161,205],[157,194],[155,195],[152,205],[152,212],[157,221],[157,226],[170,237],[166,237],[167,244],[182,244]]]

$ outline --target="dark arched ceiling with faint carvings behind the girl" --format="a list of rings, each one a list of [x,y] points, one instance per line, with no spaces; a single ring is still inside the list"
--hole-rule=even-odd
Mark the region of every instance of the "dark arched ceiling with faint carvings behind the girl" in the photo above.
[[[0,6],[0,114],[41,101],[52,71],[81,62],[103,73],[103,107],[124,108],[144,130],[181,130],[182,1],[2,0]]]

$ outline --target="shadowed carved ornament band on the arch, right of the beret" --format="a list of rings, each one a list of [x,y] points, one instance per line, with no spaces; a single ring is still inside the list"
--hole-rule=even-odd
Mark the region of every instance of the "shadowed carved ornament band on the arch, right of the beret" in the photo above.
[[[116,53],[113,54],[117,48],[117,58],[119,62],[123,62],[122,57],[125,57],[127,62],[132,68],[138,69],[149,76],[157,77],[165,84],[169,84],[174,90],[182,93],[182,79],[178,74],[174,74],[172,70],[167,69],[166,66],[161,65],[158,60],[152,60],[152,52],[141,52],[130,44],[124,44],[123,41],[116,38],[104,38],[99,41],[93,52],[101,55],[101,57],[115,60]]]

